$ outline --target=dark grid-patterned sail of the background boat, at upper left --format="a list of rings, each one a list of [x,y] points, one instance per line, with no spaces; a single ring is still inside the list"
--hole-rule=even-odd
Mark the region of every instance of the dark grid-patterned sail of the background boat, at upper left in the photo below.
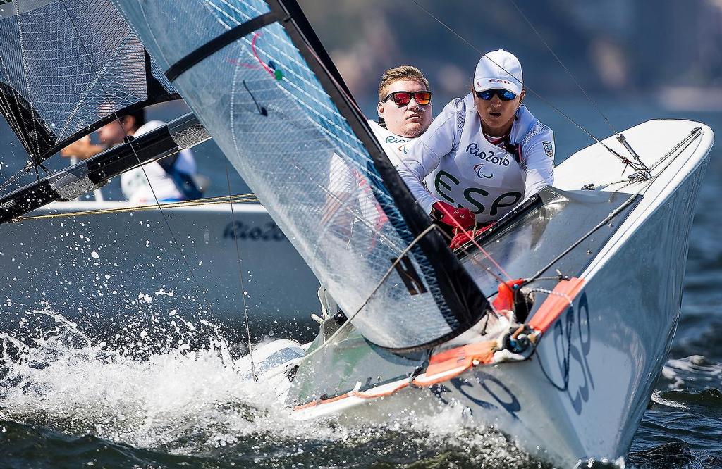
[[[0,11],[0,112],[33,163],[137,108],[179,96],[109,0]]]

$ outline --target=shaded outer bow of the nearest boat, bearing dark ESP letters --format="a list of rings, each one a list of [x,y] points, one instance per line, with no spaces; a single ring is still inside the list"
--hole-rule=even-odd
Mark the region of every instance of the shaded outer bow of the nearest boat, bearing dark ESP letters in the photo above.
[[[626,455],[679,319],[692,211],[674,206],[684,206],[679,199],[696,192],[700,176],[691,175],[584,276],[575,307],[549,328],[529,361],[477,367],[446,384],[445,399],[477,413],[486,406],[507,413],[526,430],[516,435],[524,447],[546,448],[565,465]],[[672,229],[667,239],[676,245],[658,244],[662,229]],[[630,268],[632,259],[638,268]]]

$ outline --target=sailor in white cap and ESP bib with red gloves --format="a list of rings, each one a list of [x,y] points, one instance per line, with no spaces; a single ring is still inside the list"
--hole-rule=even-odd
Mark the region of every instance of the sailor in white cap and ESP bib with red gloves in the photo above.
[[[451,247],[554,182],[554,133],[524,95],[518,58],[484,54],[469,95],[445,106],[397,168],[422,209],[454,235]]]

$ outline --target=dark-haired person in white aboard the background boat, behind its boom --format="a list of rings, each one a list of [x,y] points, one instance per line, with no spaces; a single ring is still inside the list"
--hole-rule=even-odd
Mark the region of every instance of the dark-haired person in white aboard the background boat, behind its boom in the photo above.
[[[103,152],[109,146],[123,143],[126,136],[140,136],[165,125],[160,120],[146,122],[145,110],[123,116],[98,129],[98,137],[103,145],[90,142],[85,137],[61,150],[64,157],[87,159]],[[193,177],[196,175],[196,160],[190,150],[157,162],[149,162],[142,167],[124,172],[121,175],[123,196],[130,202],[145,203],[186,201],[201,198],[203,195]]]

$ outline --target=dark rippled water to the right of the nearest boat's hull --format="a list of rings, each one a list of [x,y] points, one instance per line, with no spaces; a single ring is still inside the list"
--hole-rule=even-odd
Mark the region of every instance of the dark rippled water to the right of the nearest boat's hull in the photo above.
[[[632,443],[642,468],[722,467],[722,181],[719,149],[697,203],[682,315],[670,359]]]

